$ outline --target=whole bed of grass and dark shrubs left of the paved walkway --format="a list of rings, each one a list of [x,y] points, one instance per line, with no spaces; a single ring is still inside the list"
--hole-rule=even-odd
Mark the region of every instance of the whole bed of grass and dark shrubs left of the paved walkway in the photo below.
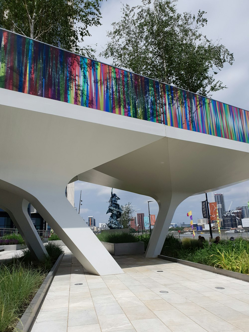
[[[41,286],[53,264],[63,253],[58,244],[47,243],[49,256],[33,259],[29,249],[14,257],[8,265],[0,266],[0,331],[13,331],[21,315],[26,310]]]

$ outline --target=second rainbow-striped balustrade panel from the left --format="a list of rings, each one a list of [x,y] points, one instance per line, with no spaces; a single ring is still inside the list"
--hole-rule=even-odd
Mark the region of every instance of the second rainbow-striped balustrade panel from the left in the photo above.
[[[43,97],[110,110],[106,64],[44,45]]]

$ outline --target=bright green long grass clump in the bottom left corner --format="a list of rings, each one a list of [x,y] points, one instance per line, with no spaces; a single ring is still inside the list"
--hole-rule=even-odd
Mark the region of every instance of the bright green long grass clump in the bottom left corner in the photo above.
[[[0,331],[12,331],[41,286],[44,275],[21,265],[0,267]]]

